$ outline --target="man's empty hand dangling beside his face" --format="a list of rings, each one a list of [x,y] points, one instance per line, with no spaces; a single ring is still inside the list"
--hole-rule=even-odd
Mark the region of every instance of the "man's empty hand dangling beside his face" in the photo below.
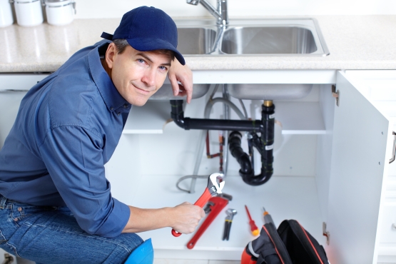
[[[177,59],[174,59],[172,61],[172,66],[168,71],[168,77],[169,81],[171,81],[173,95],[187,95],[187,103],[190,103],[193,96],[193,72],[191,69],[186,65],[181,65]]]

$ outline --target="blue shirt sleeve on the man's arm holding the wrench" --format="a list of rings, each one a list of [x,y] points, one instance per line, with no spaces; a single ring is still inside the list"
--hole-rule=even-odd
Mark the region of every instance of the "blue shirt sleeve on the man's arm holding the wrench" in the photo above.
[[[106,138],[81,126],[58,126],[39,150],[64,202],[87,233],[116,237],[128,223],[128,205],[111,196],[102,148]]]

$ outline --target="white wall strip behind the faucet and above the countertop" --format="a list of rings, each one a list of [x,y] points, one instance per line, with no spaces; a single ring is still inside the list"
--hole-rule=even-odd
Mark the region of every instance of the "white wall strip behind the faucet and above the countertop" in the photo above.
[[[215,6],[215,0],[208,0]],[[186,0],[76,0],[76,19],[121,18],[137,6],[155,6],[172,17],[210,16]],[[396,14],[395,0],[228,0],[228,15],[369,15]]]

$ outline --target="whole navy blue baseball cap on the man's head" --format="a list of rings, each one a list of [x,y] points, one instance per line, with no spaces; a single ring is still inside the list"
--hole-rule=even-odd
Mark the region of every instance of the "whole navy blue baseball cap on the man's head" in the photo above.
[[[178,46],[178,29],[175,22],[161,9],[140,6],[123,15],[114,35],[103,32],[103,39],[126,39],[133,49],[154,51],[168,49],[174,52],[176,59],[185,65]]]

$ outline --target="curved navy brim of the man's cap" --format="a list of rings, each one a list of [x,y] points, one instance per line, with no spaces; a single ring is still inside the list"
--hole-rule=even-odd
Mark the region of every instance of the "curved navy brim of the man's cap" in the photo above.
[[[133,49],[138,51],[155,51],[157,49],[168,49],[173,51],[176,59],[181,63],[181,65],[186,65],[186,61],[184,61],[181,53],[170,44],[168,41],[164,41],[163,39],[146,39],[146,38],[136,38],[136,39],[126,39],[128,44],[132,46]]]

